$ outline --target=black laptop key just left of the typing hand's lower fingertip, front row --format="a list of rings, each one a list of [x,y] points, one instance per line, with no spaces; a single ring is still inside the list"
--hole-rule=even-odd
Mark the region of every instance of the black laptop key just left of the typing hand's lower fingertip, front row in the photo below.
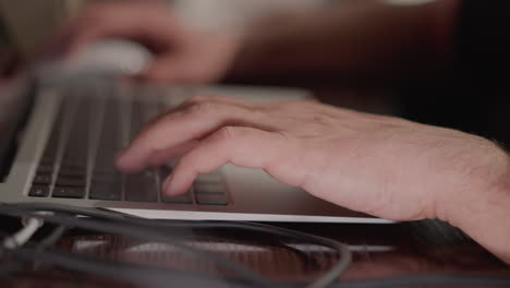
[[[125,200],[136,202],[157,202],[158,187],[151,171],[143,171],[125,177]]]

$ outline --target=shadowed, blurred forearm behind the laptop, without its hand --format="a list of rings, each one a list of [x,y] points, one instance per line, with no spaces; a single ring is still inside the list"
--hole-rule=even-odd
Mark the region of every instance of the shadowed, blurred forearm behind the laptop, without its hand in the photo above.
[[[380,79],[440,70],[452,50],[458,2],[394,5],[347,0],[327,10],[267,21],[248,33],[231,75]]]

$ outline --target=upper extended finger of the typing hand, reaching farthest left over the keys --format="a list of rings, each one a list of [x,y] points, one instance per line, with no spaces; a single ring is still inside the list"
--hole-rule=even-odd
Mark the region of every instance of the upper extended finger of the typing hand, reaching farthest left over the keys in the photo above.
[[[257,127],[257,116],[243,107],[205,101],[169,113],[151,122],[120,155],[117,165],[124,171],[137,171],[147,167],[154,153],[175,145],[201,140],[229,123]]]

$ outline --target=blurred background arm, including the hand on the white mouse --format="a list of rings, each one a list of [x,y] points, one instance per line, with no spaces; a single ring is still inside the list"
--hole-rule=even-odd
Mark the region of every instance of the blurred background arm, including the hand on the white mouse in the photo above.
[[[385,81],[445,68],[458,2],[345,0],[323,9],[280,11],[227,31],[185,24],[160,1],[98,2],[68,23],[49,50],[73,53],[106,37],[136,40],[157,56],[141,74],[153,81],[202,83],[281,74]]]

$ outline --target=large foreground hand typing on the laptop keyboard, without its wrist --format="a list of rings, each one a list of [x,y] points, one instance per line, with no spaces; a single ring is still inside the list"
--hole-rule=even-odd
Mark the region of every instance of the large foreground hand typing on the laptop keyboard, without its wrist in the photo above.
[[[231,163],[394,220],[437,217],[452,195],[498,181],[507,160],[491,142],[454,130],[312,101],[206,96],[148,123],[118,166],[139,170],[178,156],[165,182],[170,194]]]

